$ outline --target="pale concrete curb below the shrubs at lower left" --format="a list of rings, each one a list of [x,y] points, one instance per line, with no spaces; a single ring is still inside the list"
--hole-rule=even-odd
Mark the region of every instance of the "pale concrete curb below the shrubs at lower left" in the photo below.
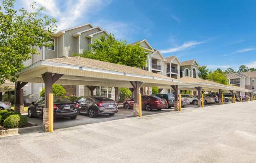
[[[38,132],[38,131],[43,131],[42,126],[31,126],[31,127],[24,127],[24,128],[18,128],[18,129],[0,130],[0,138],[6,137],[6,136],[28,134],[31,132]]]

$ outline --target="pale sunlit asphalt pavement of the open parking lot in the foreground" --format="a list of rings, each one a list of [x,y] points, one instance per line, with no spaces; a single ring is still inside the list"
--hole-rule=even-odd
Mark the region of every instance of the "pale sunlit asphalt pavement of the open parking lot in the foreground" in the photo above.
[[[0,139],[3,163],[255,163],[256,101]]]

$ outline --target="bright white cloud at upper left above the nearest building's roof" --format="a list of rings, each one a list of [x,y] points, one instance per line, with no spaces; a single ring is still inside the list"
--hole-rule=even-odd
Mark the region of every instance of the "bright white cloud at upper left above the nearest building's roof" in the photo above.
[[[34,0],[23,0],[24,4],[27,5],[26,8],[29,8],[29,5]],[[90,13],[95,9],[101,9],[105,5],[108,5],[110,0],[68,0],[66,2],[57,1],[57,0],[37,0],[37,6],[45,7],[45,14],[52,16],[58,20],[58,31],[62,29],[67,29],[80,24],[85,24],[90,18]],[[65,7],[63,7],[63,5]],[[79,21],[82,18],[83,23]]]

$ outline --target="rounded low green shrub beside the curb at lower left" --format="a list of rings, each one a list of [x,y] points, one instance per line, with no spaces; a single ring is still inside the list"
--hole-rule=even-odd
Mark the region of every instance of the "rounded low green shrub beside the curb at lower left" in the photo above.
[[[10,128],[10,129],[23,127],[26,124],[27,124],[27,117],[22,116],[20,114],[11,115],[4,120],[4,127]]]

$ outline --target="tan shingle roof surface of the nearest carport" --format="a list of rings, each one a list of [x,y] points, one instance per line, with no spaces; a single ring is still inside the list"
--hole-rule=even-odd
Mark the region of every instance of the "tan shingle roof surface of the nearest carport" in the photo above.
[[[156,74],[153,72],[148,72],[142,69],[138,69],[135,67],[130,67],[126,65],[119,65],[116,63],[110,63],[110,62],[104,62],[99,60],[93,60],[89,58],[82,58],[80,56],[75,57],[66,57],[66,58],[54,58],[54,59],[48,59],[45,60],[48,62],[55,62],[55,63],[63,63],[68,65],[75,65],[75,66],[81,66],[81,67],[88,67],[93,69],[102,69],[102,70],[108,70],[108,71],[116,71],[116,72],[123,72],[123,73],[130,73],[130,74],[137,74],[137,75],[144,75],[144,76],[152,76],[155,78],[165,78],[169,80],[177,80],[174,78],[170,78],[168,76],[163,76],[160,74]]]

